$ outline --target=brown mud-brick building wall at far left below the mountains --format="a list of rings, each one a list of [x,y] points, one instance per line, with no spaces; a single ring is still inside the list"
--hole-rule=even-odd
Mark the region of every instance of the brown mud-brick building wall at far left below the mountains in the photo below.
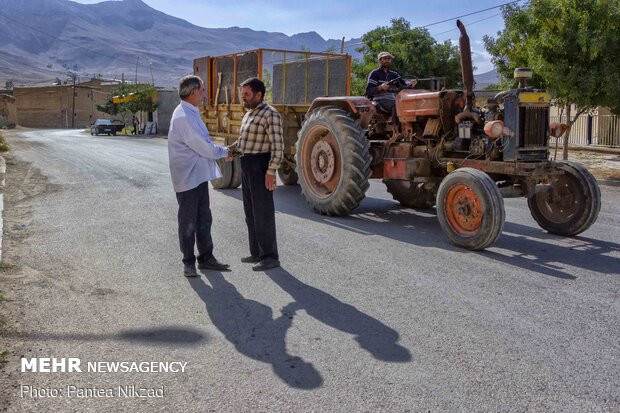
[[[17,122],[33,128],[85,128],[97,118],[109,115],[99,112],[117,82],[92,79],[77,85],[15,87]]]

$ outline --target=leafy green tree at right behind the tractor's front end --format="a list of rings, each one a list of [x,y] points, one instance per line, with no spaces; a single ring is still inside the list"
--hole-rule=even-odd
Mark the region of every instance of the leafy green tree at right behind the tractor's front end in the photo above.
[[[485,36],[485,47],[504,84],[512,83],[515,68],[529,66],[530,85],[566,106],[567,159],[570,129],[582,113],[597,106],[620,113],[620,2],[531,0],[505,6],[502,14],[504,30]],[[577,107],[572,118],[571,104]]]

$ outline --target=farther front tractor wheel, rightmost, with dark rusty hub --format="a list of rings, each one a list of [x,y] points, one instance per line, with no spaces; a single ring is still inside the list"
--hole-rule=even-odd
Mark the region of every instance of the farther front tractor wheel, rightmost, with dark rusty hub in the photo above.
[[[551,190],[528,198],[532,217],[552,234],[571,236],[590,228],[601,210],[601,190],[581,164],[560,162],[564,174],[551,180]],[[555,193],[555,196],[554,196]]]

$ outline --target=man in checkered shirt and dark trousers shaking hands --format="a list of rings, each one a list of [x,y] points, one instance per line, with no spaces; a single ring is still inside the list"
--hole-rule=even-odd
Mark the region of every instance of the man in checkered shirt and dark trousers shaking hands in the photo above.
[[[275,108],[263,102],[265,84],[261,80],[250,78],[241,87],[248,112],[241,122],[241,136],[231,145],[233,152],[241,153],[243,209],[250,243],[250,256],[241,262],[256,263],[254,271],[265,271],[280,266],[273,190],[284,157],[282,120]]]

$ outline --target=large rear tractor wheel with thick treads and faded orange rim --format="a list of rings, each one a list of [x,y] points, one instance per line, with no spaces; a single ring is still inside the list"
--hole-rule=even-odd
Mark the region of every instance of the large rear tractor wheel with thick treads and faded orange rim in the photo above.
[[[308,204],[324,215],[347,215],[364,199],[369,143],[359,121],[333,106],[308,116],[297,140],[297,175]]]

